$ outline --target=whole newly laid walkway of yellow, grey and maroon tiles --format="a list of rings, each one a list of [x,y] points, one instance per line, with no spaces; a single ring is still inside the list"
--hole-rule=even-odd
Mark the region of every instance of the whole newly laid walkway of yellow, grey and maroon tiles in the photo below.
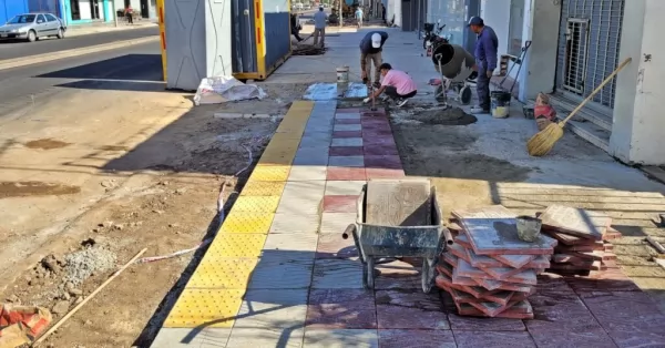
[[[665,347],[621,273],[542,277],[524,321],[457,316],[401,262],[365,290],[341,232],[367,180],[403,176],[382,111],[294,102],[152,347]]]

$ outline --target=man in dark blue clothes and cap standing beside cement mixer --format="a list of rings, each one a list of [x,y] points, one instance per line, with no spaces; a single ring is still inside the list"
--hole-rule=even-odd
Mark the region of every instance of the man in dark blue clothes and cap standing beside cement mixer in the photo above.
[[[478,106],[471,108],[471,113],[490,113],[490,79],[497,69],[497,49],[499,39],[494,30],[484,24],[480,17],[472,17],[467,25],[478,35],[475,40],[475,64],[478,65]]]

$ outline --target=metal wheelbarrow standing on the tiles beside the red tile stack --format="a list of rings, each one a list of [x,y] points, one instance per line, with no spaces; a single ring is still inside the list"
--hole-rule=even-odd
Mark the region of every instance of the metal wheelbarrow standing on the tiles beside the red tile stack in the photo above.
[[[421,286],[431,293],[437,262],[450,231],[441,225],[437,192],[426,180],[372,180],[362,186],[357,218],[342,234],[354,236],[362,263],[362,285],[375,287],[375,265],[401,257],[422,258]]]

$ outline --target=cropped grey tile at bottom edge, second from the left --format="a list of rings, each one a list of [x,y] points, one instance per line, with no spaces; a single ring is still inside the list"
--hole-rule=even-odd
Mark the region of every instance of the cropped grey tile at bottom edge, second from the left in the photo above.
[[[234,328],[226,348],[300,348],[304,329]]]

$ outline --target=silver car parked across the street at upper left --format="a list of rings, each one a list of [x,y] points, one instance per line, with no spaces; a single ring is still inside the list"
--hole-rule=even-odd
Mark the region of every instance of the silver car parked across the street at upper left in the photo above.
[[[24,13],[14,16],[0,27],[0,40],[37,41],[41,38],[64,38],[66,25],[64,21],[51,13]]]

